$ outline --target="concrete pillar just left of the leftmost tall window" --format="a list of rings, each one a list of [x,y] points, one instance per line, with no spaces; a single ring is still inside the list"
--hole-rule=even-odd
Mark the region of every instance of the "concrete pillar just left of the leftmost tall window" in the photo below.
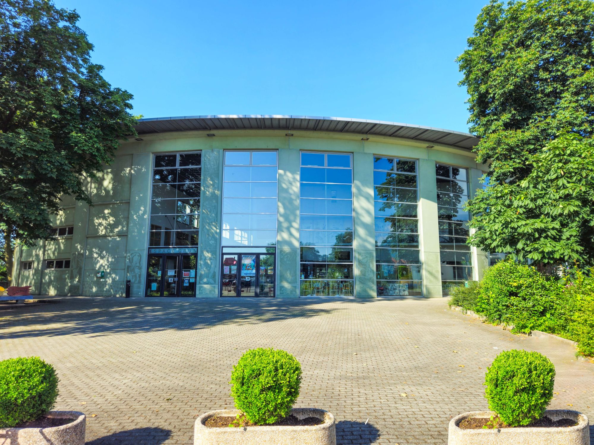
[[[130,280],[130,296],[144,297],[147,268],[147,243],[149,242],[149,218],[151,174],[153,155],[132,155],[128,237],[126,244],[126,279]]]

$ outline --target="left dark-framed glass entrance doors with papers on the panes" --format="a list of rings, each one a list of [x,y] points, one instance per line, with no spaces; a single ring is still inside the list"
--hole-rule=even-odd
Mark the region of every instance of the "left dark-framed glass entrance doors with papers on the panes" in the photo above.
[[[147,297],[194,297],[196,255],[149,255]]]

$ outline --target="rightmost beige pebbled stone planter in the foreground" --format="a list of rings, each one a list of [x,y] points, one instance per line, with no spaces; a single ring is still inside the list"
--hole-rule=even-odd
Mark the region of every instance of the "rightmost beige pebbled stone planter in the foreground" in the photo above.
[[[465,412],[450,421],[448,445],[590,445],[588,418],[568,409],[548,409],[545,415],[552,420],[574,419],[574,427],[565,428],[500,428],[498,430],[463,430],[458,425],[469,417],[489,418],[491,411]]]

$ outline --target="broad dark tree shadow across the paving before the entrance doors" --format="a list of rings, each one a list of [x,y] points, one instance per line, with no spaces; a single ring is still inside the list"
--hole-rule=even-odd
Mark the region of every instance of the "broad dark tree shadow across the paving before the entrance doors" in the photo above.
[[[317,317],[342,310],[340,300],[255,298],[65,297],[57,304],[16,309],[0,306],[0,340],[35,336],[139,333],[204,329]],[[372,304],[374,300],[343,303]]]

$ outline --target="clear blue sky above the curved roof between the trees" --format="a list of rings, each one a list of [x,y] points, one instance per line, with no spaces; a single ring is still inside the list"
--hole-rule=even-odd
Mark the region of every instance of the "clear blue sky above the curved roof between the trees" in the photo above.
[[[134,113],[355,117],[467,131],[454,59],[486,0],[55,0]]]

